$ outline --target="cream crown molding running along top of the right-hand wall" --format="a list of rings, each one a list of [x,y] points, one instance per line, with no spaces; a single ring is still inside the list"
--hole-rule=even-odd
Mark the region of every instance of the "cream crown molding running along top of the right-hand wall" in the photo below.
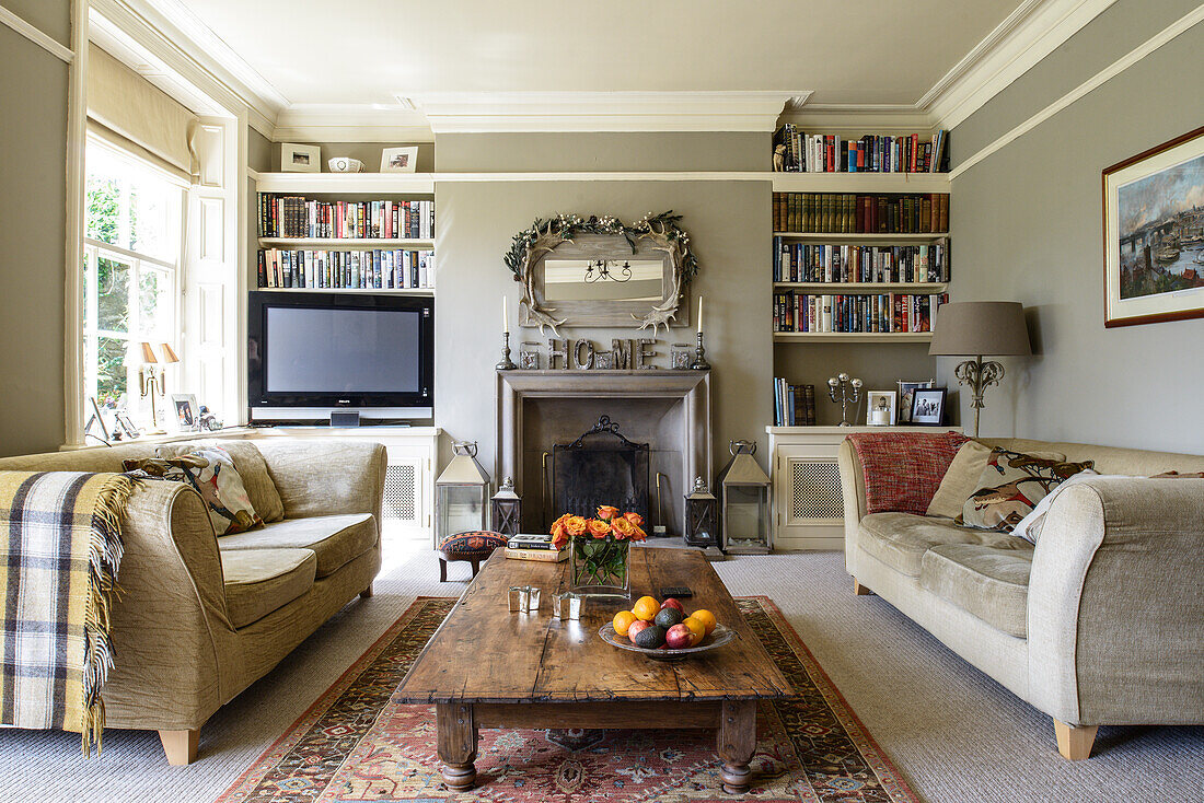
[[[1025,0],[916,101],[951,129],[1082,30],[1116,0]]]

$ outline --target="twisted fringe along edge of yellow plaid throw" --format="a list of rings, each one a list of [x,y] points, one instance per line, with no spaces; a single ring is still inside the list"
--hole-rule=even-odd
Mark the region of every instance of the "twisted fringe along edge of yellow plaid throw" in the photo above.
[[[117,571],[122,562],[122,520],[137,480],[125,474],[111,477],[96,500],[92,519],[92,542],[88,549],[88,606],[84,614],[84,673],[83,673],[83,755],[92,757],[95,744],[100,755],[105,731],[105,703],[100,690],[113,667],[110,639],[110,613],[120,600]]]

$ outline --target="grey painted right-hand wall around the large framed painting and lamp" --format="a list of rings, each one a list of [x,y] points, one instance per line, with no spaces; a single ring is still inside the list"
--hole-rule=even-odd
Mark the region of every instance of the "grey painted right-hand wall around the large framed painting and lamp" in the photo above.
[[[955,164],[1194,6],[1116,4],[957,126]],[[1023,302],[1035,352],[988,391],[984,435],[1204,454],[1204,319],[1105,329],[1100,235],[1100,171],[1204,122],[1202,48],[1196,25],[954,181],[952,290]]]

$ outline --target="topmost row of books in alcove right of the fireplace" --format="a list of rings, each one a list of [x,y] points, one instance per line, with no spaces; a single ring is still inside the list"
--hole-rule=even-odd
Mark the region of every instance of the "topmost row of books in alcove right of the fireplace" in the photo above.
[[[792,173],[943,173],[949,172],[949,131],[867,134],[845,140],[807,134],[786,123],[773,135],[773,169]]]

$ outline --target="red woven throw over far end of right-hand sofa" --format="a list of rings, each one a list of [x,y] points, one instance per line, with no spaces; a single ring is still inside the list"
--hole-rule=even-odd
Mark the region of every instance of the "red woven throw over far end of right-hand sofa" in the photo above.
[[[963,443],[960,432],[866,432],[849,442],[866,480],[866,513],[923,515]]]

